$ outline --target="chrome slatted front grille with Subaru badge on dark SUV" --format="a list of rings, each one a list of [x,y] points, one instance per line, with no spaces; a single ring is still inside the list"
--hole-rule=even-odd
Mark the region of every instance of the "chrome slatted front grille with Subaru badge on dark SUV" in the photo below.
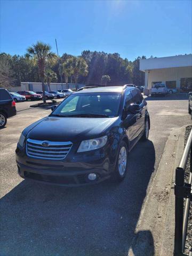
[[[54,142],[27,139],[26,152],[30,157],[61,160],[66,158],[72,145],[73,143],[70,141]]]

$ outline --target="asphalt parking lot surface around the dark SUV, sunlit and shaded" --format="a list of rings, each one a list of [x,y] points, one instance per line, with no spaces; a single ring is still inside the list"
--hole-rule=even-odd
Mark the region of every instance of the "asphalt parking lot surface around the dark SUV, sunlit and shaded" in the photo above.
[[[0,131],[1,255],[127,255],[167,138],[175,127],[191,123],[187,94],[146,100],[149,140],[131,151],[121,184],[63,188],[21,179],[14,156],[20,133],[50,109],[30,108],[8,119]],[[148,230],[143,232],[150,237]]]

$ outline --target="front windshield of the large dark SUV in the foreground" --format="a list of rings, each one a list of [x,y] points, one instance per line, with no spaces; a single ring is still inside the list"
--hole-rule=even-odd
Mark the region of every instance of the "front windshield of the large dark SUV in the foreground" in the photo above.
[[[51,116],[114,117],[118,114],[120,93],[71,94]]]

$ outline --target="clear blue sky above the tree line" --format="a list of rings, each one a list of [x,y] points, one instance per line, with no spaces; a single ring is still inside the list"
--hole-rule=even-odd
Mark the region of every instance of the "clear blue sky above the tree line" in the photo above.
[[[192,1],[2,1],[1,52],[37,41],[59,54],[118,52],[122,58],[191,53]]]

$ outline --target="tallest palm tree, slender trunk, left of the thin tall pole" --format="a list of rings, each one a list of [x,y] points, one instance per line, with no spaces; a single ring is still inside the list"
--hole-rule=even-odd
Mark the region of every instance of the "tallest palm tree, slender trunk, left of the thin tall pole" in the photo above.
[[[49,61],[52,58],[55,58],[55,54],[51,52],[51,46],[49,44],[37,42],[36,44],[33,44],[27,49],[27,55],[28,57],[34,57],[37,61],[39,76],[42,80],[43,102],[45,103],[45,68],[47,61]]]

